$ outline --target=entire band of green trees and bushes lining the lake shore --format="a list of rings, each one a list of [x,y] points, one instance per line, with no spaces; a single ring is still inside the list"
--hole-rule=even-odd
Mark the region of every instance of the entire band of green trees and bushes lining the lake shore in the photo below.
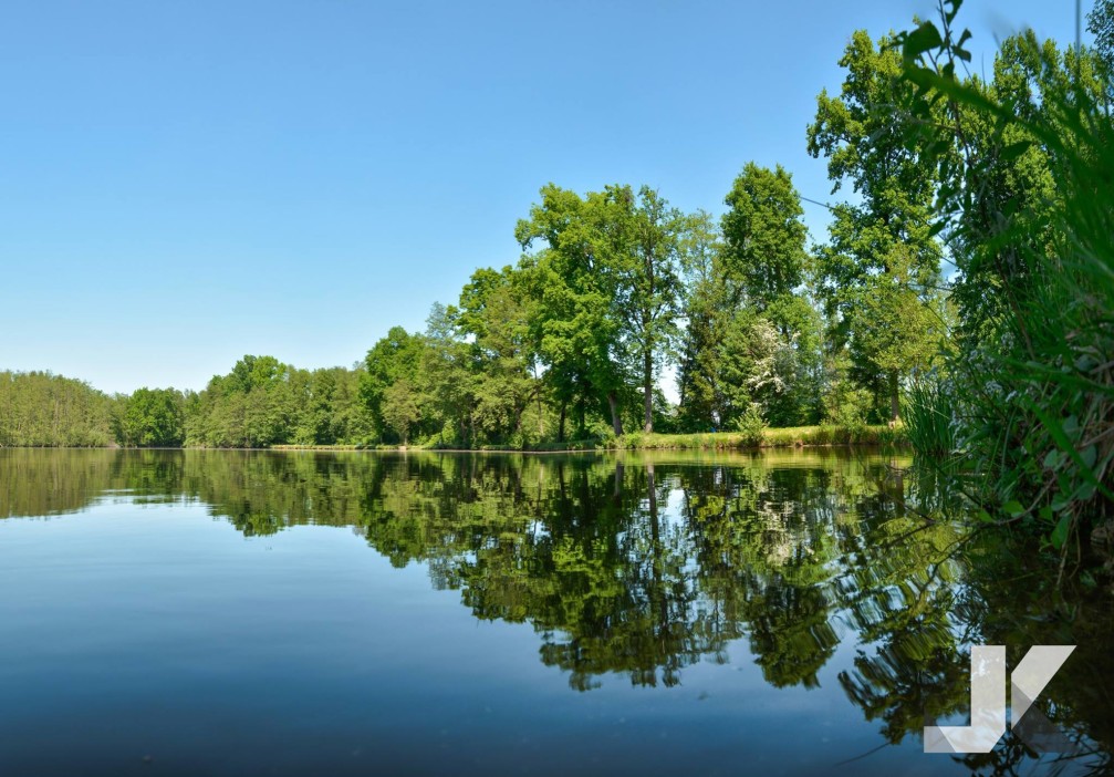
[[[201,392],[130,396],[3,372],[0,445],[529,447],[897,423],[1018,515],[1059,526],[1108,505],[1114,0],[1087,17],[1093,47],[1022,33],[986,77],[958,7],[850,38],[802,136],[844,197],[822,242],[780,166],[743,166],[719,220],[647,186],[549,184],[514,227],[517,264],[477,270],[424,331],[392,329],[352,368],[248,356]],[[667,365],[677,406],[657,389]]]

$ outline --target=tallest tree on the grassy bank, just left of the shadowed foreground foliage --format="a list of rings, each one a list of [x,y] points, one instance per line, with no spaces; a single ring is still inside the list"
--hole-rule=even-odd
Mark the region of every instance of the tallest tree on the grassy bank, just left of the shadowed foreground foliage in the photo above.
[[[832,192],[850,181],[859,195],[834,208],[830,242],[817,252],[814,283],[832,347],[850,347],[864,381],[885,387],[896,419],[900,382],[924,363],[922,344],[938,332],[896,332],[892,322],[940,321],[932,311],[940,307],[941,249],[930,223],[935,171],[909,142],[906,106],[916,87],[901,78],[892,43],[882,38],[876,47],[867,32],[853,35],[840,59],[841,93],[817,98],[808,138],[809,153],[828,158]],[[906,293],[888,293],[895,285]]]

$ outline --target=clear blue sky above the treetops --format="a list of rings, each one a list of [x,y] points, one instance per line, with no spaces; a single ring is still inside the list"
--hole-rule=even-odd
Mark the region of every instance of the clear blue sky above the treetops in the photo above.
[[[1084,11],[1089,0],[1084,0]],[[539,186],[722,210],[804,150],[851,31],[928,0],[9,3],[0,25],[0,369],[201,389],[244,353],[351,365],[517,261]],[[1072,0],[968,0],[989,67]],[[975,66],[979,67],[980,54]],[[809,207],[813,234],[823,211]]]

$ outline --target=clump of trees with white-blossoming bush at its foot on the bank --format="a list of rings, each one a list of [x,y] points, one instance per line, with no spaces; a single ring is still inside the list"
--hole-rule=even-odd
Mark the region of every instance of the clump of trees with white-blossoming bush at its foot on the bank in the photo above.
[[[779,425],[815,420],[819,319],[800,293],[800,195],[780,166],[749,163],[725,202],[723,240],[705,221],[687,266],[682,424],[730,426],[752,401]]]

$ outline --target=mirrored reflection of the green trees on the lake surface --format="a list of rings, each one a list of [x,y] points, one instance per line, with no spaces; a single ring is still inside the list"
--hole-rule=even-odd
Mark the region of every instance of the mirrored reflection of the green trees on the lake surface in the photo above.
[[[1039,548],[968,536],[910,462],[789,451],[410,456],[0,450],[0,516],[99,499],[194,501],[247,536],[351,527],[395,566],[424,564],[477,619],[529,623],[576,690],[680,683],[745,640],[774,687],[815,687],[841,644],[843,691],[889,742],[961,722],[969,647],[1074,643],[1043,711],[1106,768],[1110,596],[1057,590]],[[1067,614],[1064,614],[1067,613]],[[964,764],[1010,774],[1007,740]]]

